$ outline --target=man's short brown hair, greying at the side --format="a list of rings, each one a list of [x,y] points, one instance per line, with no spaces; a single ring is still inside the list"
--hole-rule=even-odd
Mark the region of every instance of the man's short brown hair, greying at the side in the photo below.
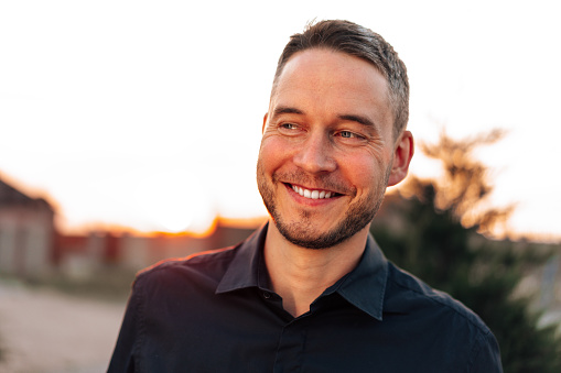
[[[379,34],[349,21],[330,20],[309,24],[303,33],[292,35],[284,46],[274,73],[273,91],[290,57],[311,48],[326,48],[359,57],[384,75],[388,81],[393,135],[397,139],[409,120],[409,80],[406,65],[393,47]]]

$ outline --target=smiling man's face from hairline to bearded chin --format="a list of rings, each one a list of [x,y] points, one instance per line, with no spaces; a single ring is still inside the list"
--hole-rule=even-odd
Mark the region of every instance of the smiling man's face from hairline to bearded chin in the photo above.
[[[393,175],[392,123],[386,79],[367,62],[326,50],[290,58],[257,165],[259,191],[287,240],[323,249],[367,229],[388,182],[404,177]]]

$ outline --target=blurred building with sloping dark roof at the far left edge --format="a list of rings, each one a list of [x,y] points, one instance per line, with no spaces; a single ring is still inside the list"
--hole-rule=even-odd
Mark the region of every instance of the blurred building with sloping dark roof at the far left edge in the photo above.
[[[39,278],[53,270],[54,210],[0,179],[0,273]]]

